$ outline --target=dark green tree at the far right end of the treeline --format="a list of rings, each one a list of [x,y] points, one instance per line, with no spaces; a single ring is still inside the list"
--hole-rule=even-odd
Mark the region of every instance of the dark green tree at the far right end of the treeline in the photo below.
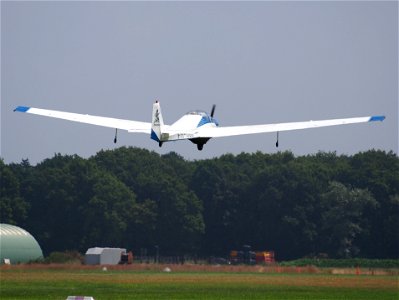
[[[350,158],[346,184],[368,189],[378,202],[377,210],[366,211],[364,218],[372,223],[370,238],[364,240],[367,257],[399,257],[397,233],[399,207],[395,201],[399,195],[399,158],[393,152],[370,150]],[[367,249],[367,250],[366,250]]]

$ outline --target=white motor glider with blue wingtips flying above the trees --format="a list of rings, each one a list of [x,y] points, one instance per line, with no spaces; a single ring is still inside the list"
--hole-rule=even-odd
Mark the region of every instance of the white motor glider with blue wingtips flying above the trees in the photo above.
[[[190,140],[197,145],[198,150],[202,150],[203,146],[211,138],[266,132],[277,132],[276,146],[278,147],[278,133],[280,131],[367,123],[383,121],[385,119],[385,116],[368,116],[321,121],[220,127],[217,120],[213,117],[215,113],[214,105],[210,114],[204,111],[191,111],[172,125],[165,125],[162,118],[161,106],[159,105],[158,101],[156,101],[153,105],[151,123],[98,117],[26,106],[18,106],[16,109],[14,109],[14,111],[115,128],[115,143],[117,138],[117,130],[123,129],[127,130],[128,132],[149,134],[153,140],[159,143],[160,147],[164,142]]]

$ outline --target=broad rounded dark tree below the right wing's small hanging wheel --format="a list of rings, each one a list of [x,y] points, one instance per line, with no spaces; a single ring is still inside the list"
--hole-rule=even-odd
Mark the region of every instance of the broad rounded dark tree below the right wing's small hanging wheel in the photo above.
[[[291,259],[317,251],[318,196],[325,178],[311,164],[276,160],[253,180],[240,209],[241,235],[258,249]],[[241,227],[240,227],[241,228]]]

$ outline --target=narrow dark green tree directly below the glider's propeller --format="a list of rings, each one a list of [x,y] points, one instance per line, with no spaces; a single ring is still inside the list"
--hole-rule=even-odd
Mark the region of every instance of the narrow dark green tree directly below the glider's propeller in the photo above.
[[[228,155],[202,161],[192,176],[190,187],[204,206],[202,253],[207,255],[225,255],[240,244],[236,232],[239,195],[247,180],[233,160]]]

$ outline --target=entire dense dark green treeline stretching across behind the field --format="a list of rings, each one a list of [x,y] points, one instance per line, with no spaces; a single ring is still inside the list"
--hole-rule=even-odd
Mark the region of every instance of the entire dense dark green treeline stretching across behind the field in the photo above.
[[[226,256],[247,244],[278,260],[399,256],[393,152],[186,161],[122,147],[36,166],[0,160],[0,169],[1,223],[27,229],[45,254],[108,246]]]

